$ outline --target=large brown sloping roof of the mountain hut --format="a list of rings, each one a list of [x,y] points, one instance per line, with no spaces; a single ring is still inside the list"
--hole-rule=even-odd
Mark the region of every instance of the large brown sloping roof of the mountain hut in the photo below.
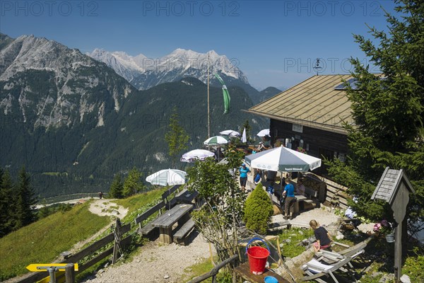
[[[247,110],[255,115],[346,134],[353,123],[351,102],[340,86],[351,75],[319,75],[302,81]]]

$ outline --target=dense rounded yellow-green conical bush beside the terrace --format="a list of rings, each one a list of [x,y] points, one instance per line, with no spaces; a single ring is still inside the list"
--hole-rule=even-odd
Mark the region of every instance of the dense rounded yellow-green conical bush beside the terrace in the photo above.
[[[264,235],[271,221],[273,207],[268,194],[258,184],[252,194],[247,197],[245,205],[246,228]]]

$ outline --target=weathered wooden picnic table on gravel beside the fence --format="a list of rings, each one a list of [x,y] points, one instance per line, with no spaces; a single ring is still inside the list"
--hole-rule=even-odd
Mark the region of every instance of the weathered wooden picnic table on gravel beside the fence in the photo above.
[[[163,243],[172,243],[172,226],[179,221],[184,223],[189,219],[189,212],[192,210],[193,204],[177,204],[172,209],[165,211],[152,222],[152,225],[159,227],[159,240]]]

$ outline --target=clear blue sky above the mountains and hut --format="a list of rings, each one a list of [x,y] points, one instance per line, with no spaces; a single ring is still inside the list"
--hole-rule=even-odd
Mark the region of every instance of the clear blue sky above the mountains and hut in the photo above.
[[[353,34],[386,29],[393,1],[0,1],[0,31],[78,48],[162,57],[177,48],[225,54],[257,88],[346,74],[367,58]],[[377,71],[377,70],[376,70]]]

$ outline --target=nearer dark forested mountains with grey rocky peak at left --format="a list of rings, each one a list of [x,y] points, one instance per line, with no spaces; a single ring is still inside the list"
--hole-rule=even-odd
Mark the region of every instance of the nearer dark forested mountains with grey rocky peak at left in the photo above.
[[[140,91],[79,50],[33,35],[0,34],[0,166],[12,172],[25,166],[40,197],[107,191],[114,174],[133,167],[146,177],[171,166],[164,136],[173,107],[190,136],[189,149],[202,145],[206,88],[184,76]],[[243,88],[228,89],[231,110],[223,115],[222,91],[210,88],[212,134],[240,131],[246,120],[252,135],[268,127],[267,120],[241,111],[253,105]]]

